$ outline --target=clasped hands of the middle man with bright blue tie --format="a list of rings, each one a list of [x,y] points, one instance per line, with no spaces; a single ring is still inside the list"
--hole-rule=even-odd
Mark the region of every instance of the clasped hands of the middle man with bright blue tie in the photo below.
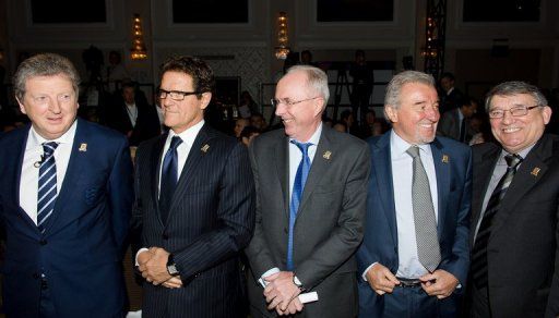
[[[264,289],[264,296],[269,304],[267,309],[277,307],[277,314],[282,315],[282,313],[287,310],[289,303],[299,295],[300,290],[293,282],[293,277],[294,273],[292,271],[281,271],[264,278],[267,282]]]

